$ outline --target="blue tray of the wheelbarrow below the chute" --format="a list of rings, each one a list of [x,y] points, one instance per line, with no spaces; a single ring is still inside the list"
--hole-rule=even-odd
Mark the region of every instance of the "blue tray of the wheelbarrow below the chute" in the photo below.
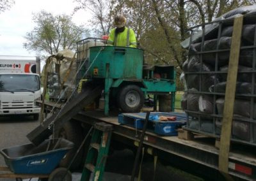
[[[49,139],[35,146],[32,143],[4,148],[1,154],[13,173],[49,174],[58,166],[61,159],[74,143],[59,139]]]

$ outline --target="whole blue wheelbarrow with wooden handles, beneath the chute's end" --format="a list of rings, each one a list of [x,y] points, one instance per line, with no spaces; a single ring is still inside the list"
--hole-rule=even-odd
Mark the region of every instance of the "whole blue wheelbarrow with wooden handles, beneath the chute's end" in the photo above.
[[[40,178],[48,181],[71,181],[66,168],[56,168],[61,159],[74,146],[63,138],[49,139],[35,146],[32,143],[4,148],[1,154],[6,166],[0,167],[0,178]]]

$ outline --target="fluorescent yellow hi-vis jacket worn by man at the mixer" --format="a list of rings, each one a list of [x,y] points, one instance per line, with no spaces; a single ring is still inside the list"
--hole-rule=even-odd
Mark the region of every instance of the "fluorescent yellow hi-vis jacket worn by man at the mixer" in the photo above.
[[[115,36],[115,29],[111,29],[108,38],[108,44],[117,47],[136,48],[136,37],[131,28],[125,27],[124,31]]]

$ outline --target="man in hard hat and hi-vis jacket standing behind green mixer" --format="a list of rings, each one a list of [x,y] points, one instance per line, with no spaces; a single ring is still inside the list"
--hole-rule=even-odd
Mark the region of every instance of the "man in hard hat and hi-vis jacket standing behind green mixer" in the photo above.
[[[114,19],[115,29],[111,29],[108,45],[136,48],[136,37],[131,28],[125,27],[125,17],[117,15]]]

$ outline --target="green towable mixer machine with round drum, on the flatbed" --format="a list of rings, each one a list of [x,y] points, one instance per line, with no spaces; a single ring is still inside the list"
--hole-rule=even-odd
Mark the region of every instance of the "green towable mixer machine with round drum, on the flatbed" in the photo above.
[[[96,41],[96,39],[93,39]],[[143,50],[130,47],[94,46],[88,48],[88,57],[81,56],[86,40],[77,43],[77,64],[86,62],[79,75],[90,81],[104,83],[104,113],[109,113],[109,98],[116,101],[122,112],[140,112],[145,96],[154,94],[171,97],[170,108],[175,103],[175,70],[173,66],[143,65]],[[97,45],[97,43],[95,43]],[[101,45],[101,44],[100,44]],[[79,52],[80,50],[80,52]],[[83,50],[81,52],[81,50]],[[90,55],[89,55],[90,54]]]

